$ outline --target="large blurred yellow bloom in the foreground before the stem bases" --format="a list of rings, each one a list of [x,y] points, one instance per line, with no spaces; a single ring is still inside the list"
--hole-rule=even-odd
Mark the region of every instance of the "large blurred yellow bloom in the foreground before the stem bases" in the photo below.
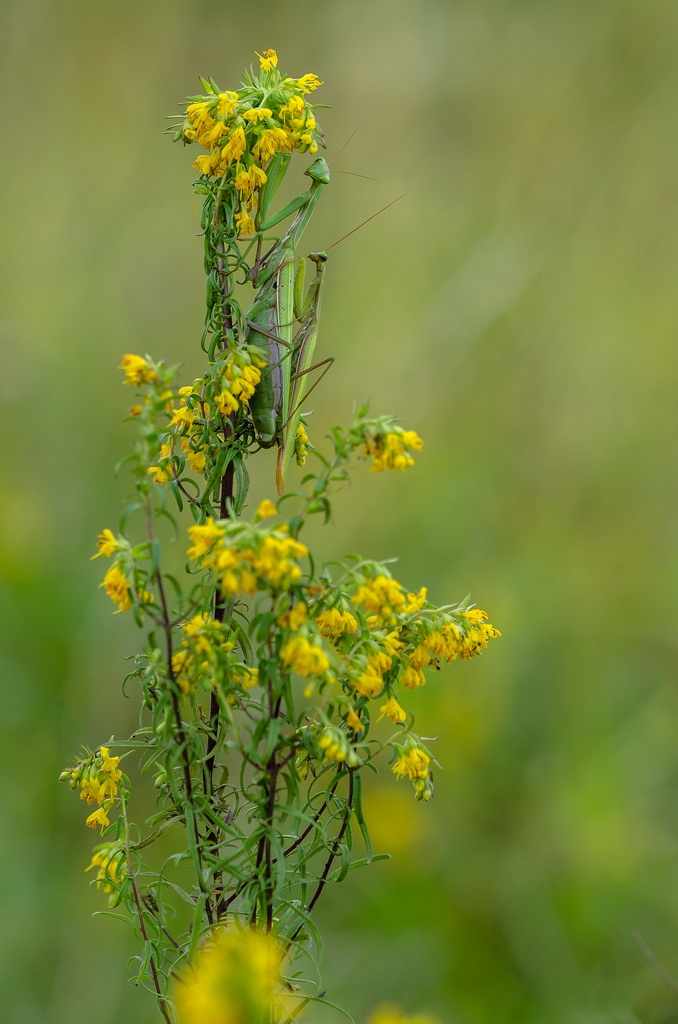
[[[181,1024],[268,1024],[282,958],[270,934],[217,930],[174,987]]]

